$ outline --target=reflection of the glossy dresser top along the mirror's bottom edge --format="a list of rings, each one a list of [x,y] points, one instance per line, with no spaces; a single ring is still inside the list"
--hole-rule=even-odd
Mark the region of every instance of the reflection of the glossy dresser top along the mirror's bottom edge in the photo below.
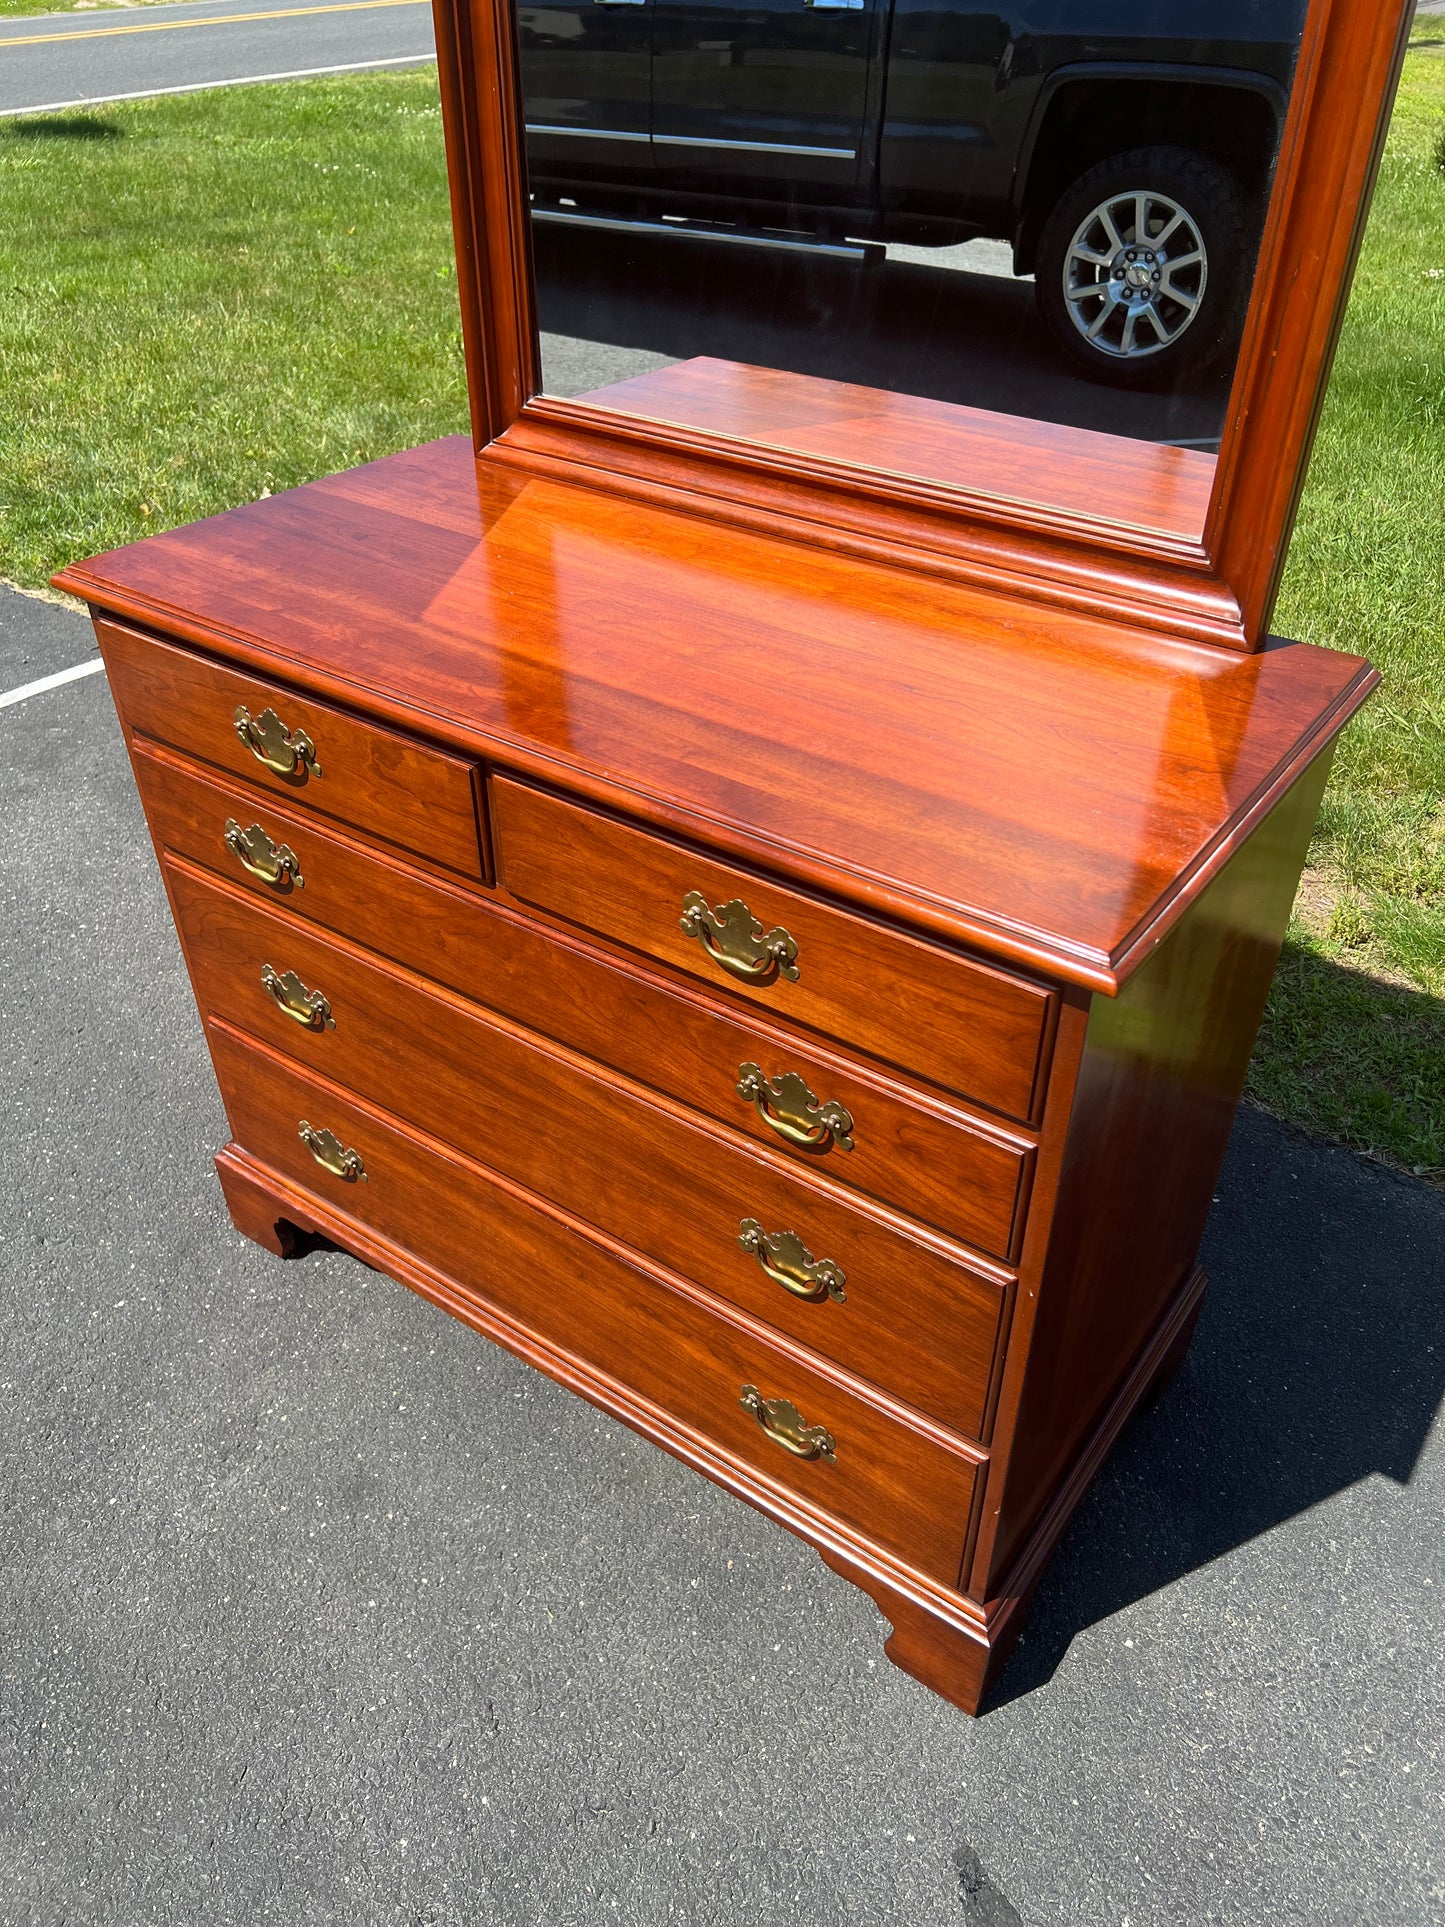
[[[1096,520],[1110,501],[1121,530],[1198,543],[1214,486],[1214,457],[1160,441],[1102,436],[988,409],[892,395],[697,355],[580,397],[676,428],[782,449],[840,468],[871,468],[979,493],[1019,507]],[[1027,491],[1033,493],[1027,493]]]

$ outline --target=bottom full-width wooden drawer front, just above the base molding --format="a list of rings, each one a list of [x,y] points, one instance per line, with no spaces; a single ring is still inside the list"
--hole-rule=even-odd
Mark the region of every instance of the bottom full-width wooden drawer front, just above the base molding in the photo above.
[[[977,1476],[971,1457],[877,1409],[686,1289],[601,1251],[445,1147],[304,1077],[216,1021],[208,1035],[231,1129],[252,1156],[670,1412],[784,1491],[921,1572],[958,1584]],[[301,1141],[302,1123],[333,1133],[366,1177],[347,1179],[318,1166]],[[748,1387],[763,1401],[788,1399],[807,1426],[823,1426],[832,1459],[794,1457],[765,1436],[744,1409]]]

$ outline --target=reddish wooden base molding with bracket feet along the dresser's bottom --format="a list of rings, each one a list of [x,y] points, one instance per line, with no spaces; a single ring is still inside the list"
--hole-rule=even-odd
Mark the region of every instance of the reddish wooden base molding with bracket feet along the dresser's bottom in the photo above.
[[[1129,1378],[1100,1418],[1089,1445],[1069,1468],[1052,1503],[1033,1528],[1008,1584],[986,1609],[911,1571],[880,1547],[855,1538],[836,1520],[801,1505],[790,1491],[759,1478],[709,1439],[640,1397],[617,1380],[551,1345],[530,1328],[486,1305],[414,1254],[378,1237],[360,1220],[293,1185],[239,1145],[216,1158],[231,1222],[274,1256],[299,1254],[301,1241],[324,1237],[362,1264],[408,1285],[462,1324],[526,1359],[590,1403],[642,1432],[684,1465],[746,1499],[778,1524],[807,1540],[823,1561],[865,1592],[890,1623],[886,1657],[931,1692],[975,1715],[998,1676],[1027,1617],[1033,1590],[1064,1536],[1075,1507],[1129,1418],[1164,1393],[1189,1351],[1204,1299],[1204,1272],[1195,1268],[1160,1320]],[[983,1480],[979,1482],[983,1491]],[[969,1532],[969,1540],[973,1530]]]

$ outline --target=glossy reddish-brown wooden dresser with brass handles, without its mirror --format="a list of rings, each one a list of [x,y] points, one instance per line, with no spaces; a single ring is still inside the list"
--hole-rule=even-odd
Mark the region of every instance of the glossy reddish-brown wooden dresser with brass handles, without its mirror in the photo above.
[[[478,470],[464,439],[60,584],[241,1229],[324,1233],[800,1532],[973,1711],[1189,1345],[1374,673]]]

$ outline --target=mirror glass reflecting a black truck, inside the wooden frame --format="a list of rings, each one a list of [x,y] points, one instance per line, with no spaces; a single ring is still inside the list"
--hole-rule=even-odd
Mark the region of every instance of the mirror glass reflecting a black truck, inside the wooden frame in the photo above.
[[[1198,536],[1304,4],[520,0],[543,391]]]

